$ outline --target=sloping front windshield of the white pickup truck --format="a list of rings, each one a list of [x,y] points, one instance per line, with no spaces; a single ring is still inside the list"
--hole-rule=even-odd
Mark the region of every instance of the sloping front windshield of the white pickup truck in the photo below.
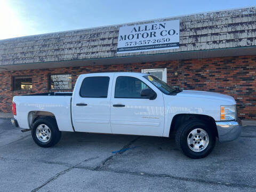
[[[175,94],[181,92],[179,89],[175,89],[174,87],[167,85],[165,82],[163,82],[162,80],[158,79],[153,75],[145,75],[143,77],[148,79],[150,83],[155,85],[157,89],[162,91],[164,94]]]

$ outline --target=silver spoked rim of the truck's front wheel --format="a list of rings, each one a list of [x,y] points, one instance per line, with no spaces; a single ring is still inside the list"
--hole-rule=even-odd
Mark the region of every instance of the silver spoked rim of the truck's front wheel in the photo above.
[[[194,129],[188,134],[187,143],[189,149],[194,152],[201,152],[206,149],[209,144],[209,135],[203,129]]]

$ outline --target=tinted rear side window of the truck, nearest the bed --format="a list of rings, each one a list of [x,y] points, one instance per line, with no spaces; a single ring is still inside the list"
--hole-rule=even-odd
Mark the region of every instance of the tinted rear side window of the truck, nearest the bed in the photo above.
[[[80,96],[83,98],[107,98],[109,77],[86,77],[84,78]]]

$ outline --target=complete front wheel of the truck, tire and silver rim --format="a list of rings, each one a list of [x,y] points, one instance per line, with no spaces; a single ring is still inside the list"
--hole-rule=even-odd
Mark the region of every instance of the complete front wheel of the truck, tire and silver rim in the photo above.
[[[204,121],[191,119],[183,123],[175,134],[176,145],[190,158],[203,158],[215,146],[215,135],[211,126]]]

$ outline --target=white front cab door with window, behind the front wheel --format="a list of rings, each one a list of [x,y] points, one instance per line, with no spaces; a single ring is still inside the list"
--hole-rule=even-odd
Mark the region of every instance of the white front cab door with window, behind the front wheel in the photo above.
[[[156,98],[141,97],[151,89]],[[164,130],[163,93],[144,77],[115,75],[110,102],[111,130],[116,134],[162,136]]]

